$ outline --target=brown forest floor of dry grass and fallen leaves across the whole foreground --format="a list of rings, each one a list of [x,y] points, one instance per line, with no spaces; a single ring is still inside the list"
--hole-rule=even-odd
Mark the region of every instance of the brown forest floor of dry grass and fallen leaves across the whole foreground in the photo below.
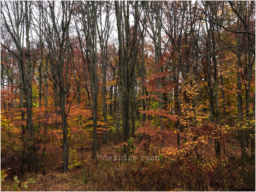
[[[154,146],[158,145],[155,143]],[[70,163],[71,167],[67,173],[61,173],[61,150],[46,155],[43,162],[45,174],[42,174],[41,170],[40,174],[24,172],[21,175],[17,168],[15,170],[10,166],[11,170],[7,171],[8,176],[2,183],[1,191],[14,191],[15,175],[21,182],[30,178],[36,181],[30,184],[29,190],[22,184],[22,191],[255,191],[255,166],[250,164],[247,168],[243,166],[238,172],[235,164],[231,166],[229,160],[223,159],[220,166],[213,168],[212,173],[206,173],[199,166],[197,171],[193,171],[182,161],[147,161],[145,158],[142,161],[143,152],[136,150],[134,155],[140,158],[123,162],[122,165],[118,160],[103,160],[105,155],[115,155],[115,147],[113,144],[102,145],[100,152],[97,151],[97,154],[102,156],[97,160],[91,160],[91,149],[84,150],[83,154],[81,151],[70,153],[69,160],[73,163]],[[150,147],[150,157],[158,155],[158,150],[158,147]],[[205,145],[203,152],[201,160],[210,159],[214,154],[214,145]],[[232,154],[235,154],[235,151],[232,151]],[[189,157],[187,159],[189,160]],[[135,170],[127,170],[129,168]],[[136,170],[137,168],[140,170]]]

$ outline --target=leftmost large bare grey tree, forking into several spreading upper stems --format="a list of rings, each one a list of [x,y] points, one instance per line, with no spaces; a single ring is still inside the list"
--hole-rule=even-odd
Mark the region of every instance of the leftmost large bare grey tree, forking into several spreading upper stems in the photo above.
[[[30,41],[29,41],[29,30],[30,30],[30,18],[31,18],[31,9],[28,11],[28,2],[25,2],[25,13],[23,12],[23,1],[20,2],[21,5],[21,12],[19,12],[19,2],[12,2],[13,3],[13,11],[16,15],[15,19],[15,26],[16,31],[14,27],[10,28],[9,24],[7,24],[5,15],[3,14],[3,11],[1,9],[1,14],[4,19],[4,24],[6,26],[7,31],[11,35],[13,41],[15,42],[15,46],[17,49],[17,54],[15,54],[15,57],[18,59],[18,67],[19,67],[19,81],[20,81],[20,107],[24,108],[23,103],[23,91],[26,95],[26,108],[27,108],[27,119],[26,119],[26,130],[27,130],[27,137],[26,137],[26,145],[27,145],[27,155],[30,158],[29,160],[32,160],[34,164],[35,172],[38,173],[38,164],[37,164],[37,151],[36,151],[36,143],[34,139],[34,124],[32,119],[32,85],[31,85],[31,52],[30,52]],[[16,4],[14,4],[16,3]],[[31,5],[31,4],[30,4]],[[29,5],[29,8],[30,8]],[[6,9],[8,10],[8,17],[11,18],[10,10],[5,2]],[[16,7],[16,10],[15,10]],[[29,15],[28,15],[29,14]],[[25,22],[24,22],[25,19]],[[13,21],[10,19],[11,26],[14,26]],[[23,55],[23,45],[21,46],[21,31],[19,31],[20,25],[23,27],[26,23],[26,63],[27,66],[25,67],[24,64],[24,55]],[[23,27],[24,32],[24,27]],[[23,43],[22,43],[23,44]],[[3,45],[1,43],[1,45]],[[8,48],[7,48],[8,49]],[[10,50],[9,50],[10,51]],[[27,68],[27,70],[26,70]],[[24,111],[21,110],[21,120],[24,121]],[[25,134],[25,128],[24,125],[21,126],[22,129],[22,139],[24,139]],[[31,144],[33,143],[33,144]],[[28,169],[31,170],[31,163],[28,163]]]

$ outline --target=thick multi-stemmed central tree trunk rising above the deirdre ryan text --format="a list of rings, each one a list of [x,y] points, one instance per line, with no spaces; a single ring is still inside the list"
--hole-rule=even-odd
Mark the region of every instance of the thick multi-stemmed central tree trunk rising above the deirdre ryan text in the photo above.
[[[123,3],[123,6],[122,6]],[[130,125],[131,125],[131,89],[132,89],[132,78],[135,67],[135,40],[137,39],[137,25],[138,18],[135,17],[134,33],[132,39],[131,50],[129,51],[129,35],[130,35],[130,24],[129,24],[129,7],[131,2],[121,2],[119,5],[118,1],[115,1],[115,14],[117,20],[117,33],[119,42],[119,86],[121,91],[121,105],[122,105],[122,142],[127,142],[130,139]],[[126,9],[126,10],[125,10]],[[135,15],[138,14],[138,2],[135,2]],[[122,13],[123,12],[123,13]],[[124,20],[123,20],[124,19]],[[123,51],[122,51],[123,50]],[[129,55],[130,53],[130,55]],[[129,59],[131,63],[129,63]],[[126,145],[123,146],[124,151],[128,154]],[[123,155],[123,154],[121,154]]]

